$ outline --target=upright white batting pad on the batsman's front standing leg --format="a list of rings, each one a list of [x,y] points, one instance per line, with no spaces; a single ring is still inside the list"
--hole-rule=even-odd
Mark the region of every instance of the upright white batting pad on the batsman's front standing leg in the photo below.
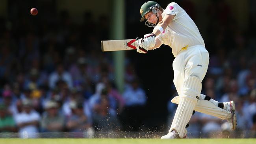
[[[169,133],[175,129],[180,138],[184,137],[185,127],[192,116],[195,106],[197,105],[201,89],[201,81],[195,76],[189,76],[184,81],[182,95],[180,96],[180,101]]]

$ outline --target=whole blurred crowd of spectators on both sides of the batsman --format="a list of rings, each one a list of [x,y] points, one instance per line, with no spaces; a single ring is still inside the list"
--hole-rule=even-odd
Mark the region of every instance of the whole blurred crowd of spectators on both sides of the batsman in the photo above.
[[[184,0],[181,6],[189,13],[193,7],[186,7],[188,2]],[[237,131],[255,131],[256,37],[249,29],[256,24],[255,12],[250,13],[250,25],[244,30],[223,1],[218,1],[215,9],[209,7],[210,35],[204,40],[210,62],[202,94],[220,102],[234,100]],[[120,93],[114,84],[111,53],[100,51],[100,40],[109,35],[108,17],[96,19],[86,12],[83,24],[75,24],[67,11],[52,18],[46,13],[41,19],[47,17],[47,22],[16,17],[0,19],[1,133],[18,132],[22,138],[34,138],[37,132],[91,137],[95,131],[141,131],[147,93],[137,76],[140,69],[128,55],[124,92]],[[176,96],[174,86],[171,88],[169,98]],[[175,109],[175,104],[168,103],[167,125]],[[193,137],[202,133],[210,137],[229,129],[224,122],[195,113],[188,131]]]

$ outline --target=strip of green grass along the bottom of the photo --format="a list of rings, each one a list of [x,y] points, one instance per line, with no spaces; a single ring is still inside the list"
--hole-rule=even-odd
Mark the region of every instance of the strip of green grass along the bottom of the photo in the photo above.
[[[256,144],[256,139],[83,139],[83,138],[1,138],[0,144]]]

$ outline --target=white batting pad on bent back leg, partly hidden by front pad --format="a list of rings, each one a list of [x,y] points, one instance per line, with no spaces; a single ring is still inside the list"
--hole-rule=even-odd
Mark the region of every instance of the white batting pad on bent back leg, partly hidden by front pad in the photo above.
[[[180,96],[175,96],[172,100],[172,103],[179,104],[180,102]],[[209,114],[211,116],[216,116],[217,118],[220,118],[222,120],[226,120],[228,118],[231,118],[231,113],[230,111],[226,111],[224,109],[221,109],[211,103],[208,100],[198,100],[197,105],[195,106],[195,111],[204,113],[204,114]]]

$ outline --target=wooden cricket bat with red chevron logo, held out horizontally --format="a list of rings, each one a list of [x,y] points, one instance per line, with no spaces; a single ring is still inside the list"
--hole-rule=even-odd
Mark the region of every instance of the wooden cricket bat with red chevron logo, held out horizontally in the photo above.
[[[101,41],[102,52],[118,50],[135,50],[138,42],[135,39]]]

